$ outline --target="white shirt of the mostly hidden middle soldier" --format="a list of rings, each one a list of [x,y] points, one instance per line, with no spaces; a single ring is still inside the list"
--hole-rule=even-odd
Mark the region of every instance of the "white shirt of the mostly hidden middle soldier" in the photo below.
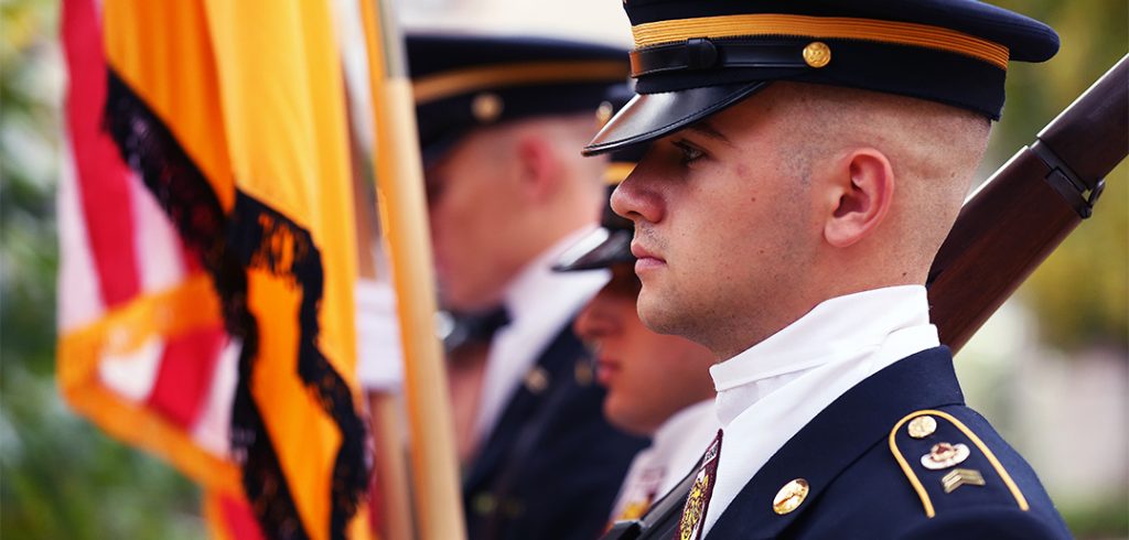
[[[667,418],[655,431],[650,446],[631,461],[612,507],[612,521],[641,516],[640,512],[673,489],[698,464],[702,441],[717,435],[718,427],[712,399],[699,401]]]

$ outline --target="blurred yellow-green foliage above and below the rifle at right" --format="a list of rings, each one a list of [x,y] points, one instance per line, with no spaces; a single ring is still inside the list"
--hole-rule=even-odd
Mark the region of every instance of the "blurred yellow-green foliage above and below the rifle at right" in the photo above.
[[[1043,64],[1012,64],[1007,105],[996,126],[987,170],[1022,144],[1129,52],[1124,0],[998,0],[999,6],[1048,21],[1062,37]],[[1129,166],[1106,178],[1094,215],[1062,242],[1018,292],[1043,339],[1065,351],[1129,347]],[[1129,355],[1126,355],[1129,357]]]

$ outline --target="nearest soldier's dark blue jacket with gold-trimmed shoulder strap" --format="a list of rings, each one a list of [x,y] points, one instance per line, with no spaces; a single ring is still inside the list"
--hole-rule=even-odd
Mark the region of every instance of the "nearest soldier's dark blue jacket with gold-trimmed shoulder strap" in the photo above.
[[[919,416],[931,417],[919,424],[935,427],[914,437],[909,426]],[[922,461],[930,461],[926,457],[938,443],[963,444],[968,457],[927,468]],[[807,480],[809,493],[795,511],[778,514],[778,490],[797,478]],[[1070,533],[1026,461],[964,405],[952,354],[937,347],[895,362],[821,411],[745,485],[708,538],[1060,539]]]

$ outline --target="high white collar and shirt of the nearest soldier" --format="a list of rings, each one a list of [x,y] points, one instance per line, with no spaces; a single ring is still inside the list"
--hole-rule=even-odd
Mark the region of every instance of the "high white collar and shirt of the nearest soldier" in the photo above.
[[[708,534],[772,454],[839,396],[937,345],[925,287],[903,285],[826,300],[710,368],[724,436],[702,532]],[[710,442],[703,436],[699,452]]]

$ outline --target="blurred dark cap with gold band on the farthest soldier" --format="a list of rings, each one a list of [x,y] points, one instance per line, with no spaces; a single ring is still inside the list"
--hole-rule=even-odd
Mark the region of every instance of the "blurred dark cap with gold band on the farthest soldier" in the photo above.
[[[423,161],[471,130],[593,112],[628,76],[627,52],[543,37],[410,34],[409,71]]]

